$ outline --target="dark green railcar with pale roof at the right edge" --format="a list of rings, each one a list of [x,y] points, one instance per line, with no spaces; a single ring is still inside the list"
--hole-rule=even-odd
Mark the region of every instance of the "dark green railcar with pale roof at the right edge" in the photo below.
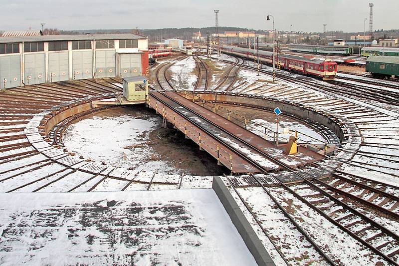
[[[377,77],[399,77],[399,57],[369,56],[366,60],[366,71]]]

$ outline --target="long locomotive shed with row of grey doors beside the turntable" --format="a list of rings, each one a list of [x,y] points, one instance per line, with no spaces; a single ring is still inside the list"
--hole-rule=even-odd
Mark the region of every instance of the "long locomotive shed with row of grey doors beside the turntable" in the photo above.
[[[0,37],[0,88],[148,70],[147,37],[86,34]]]

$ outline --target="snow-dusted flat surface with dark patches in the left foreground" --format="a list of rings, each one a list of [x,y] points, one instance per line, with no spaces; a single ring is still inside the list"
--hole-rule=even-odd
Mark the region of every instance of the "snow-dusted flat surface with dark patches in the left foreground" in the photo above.
[[[0,194],[2,265],[256,265],[211,189]]]

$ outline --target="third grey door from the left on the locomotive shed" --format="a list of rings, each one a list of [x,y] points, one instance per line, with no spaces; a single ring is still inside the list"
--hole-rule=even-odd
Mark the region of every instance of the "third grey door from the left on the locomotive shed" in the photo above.
[[[48,54],[48,79],[50,82],[69,79],[68,52],[54,52]]]

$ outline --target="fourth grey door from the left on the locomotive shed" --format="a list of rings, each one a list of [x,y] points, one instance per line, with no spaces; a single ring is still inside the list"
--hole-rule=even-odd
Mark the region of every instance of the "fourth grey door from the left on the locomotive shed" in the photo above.
[[[72,79],[93,78],[91,51],[72,52]]]

